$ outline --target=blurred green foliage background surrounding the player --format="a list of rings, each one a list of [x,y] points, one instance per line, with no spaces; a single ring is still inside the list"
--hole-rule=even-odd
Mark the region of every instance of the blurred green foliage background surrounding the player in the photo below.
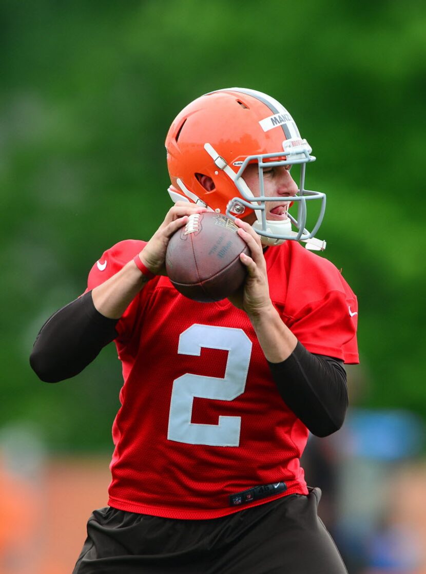
[[[114,346],[47,385],[30,370],[32,344],[104,249],[156,230],[171,205],[168,126],[230,86],[280,100],[317,157],[318,236],[359,297],[358,404],[426,420],[424,2],[0,7],[0,426],[29,425],[53,451],[111,451]]]

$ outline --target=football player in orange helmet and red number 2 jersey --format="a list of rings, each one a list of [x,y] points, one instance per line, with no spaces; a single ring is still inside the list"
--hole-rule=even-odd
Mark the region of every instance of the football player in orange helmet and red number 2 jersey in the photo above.
[[[312,253],[325,195],[305,189],[311,148],[277,100],[229,88],[185,107],[166,149],[164,222],[104,251],[31,356],[56,382],[115,340],[123,367],[109,506],[74,572],[344,573],[299,463],[309,432],[343,424],[343,363],[358,362],[356,297]],[[250,249],[242,289],[212,303],[178,293],[164,265],[171,235],[204,211],[234,219]]]

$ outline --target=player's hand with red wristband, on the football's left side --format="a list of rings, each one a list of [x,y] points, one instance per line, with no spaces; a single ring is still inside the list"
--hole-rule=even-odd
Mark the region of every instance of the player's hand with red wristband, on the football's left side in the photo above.
[[[207,211],[188,201],[176,201],[167,212],[164,222],[161,223],[152,238],[140,253],[142,262],[150,272],[156,275],[166,275],[165,257],[169,239],[180,227],[183,227],[191,214],[201,214]]]

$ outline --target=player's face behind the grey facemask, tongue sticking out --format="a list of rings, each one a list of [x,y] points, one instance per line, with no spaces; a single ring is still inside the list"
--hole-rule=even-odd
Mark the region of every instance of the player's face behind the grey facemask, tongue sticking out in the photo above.
[[[291,165],[278,165],[264,168],[264,190],[266,197],[291,197],[297,193],[297,184],[290,174]],[[249,164],[244,170],[243,179],[253,195],[260,196],[259,172],[257,164]],[[287,219],[289,201],[266,202],[266,219],[283,221]]]

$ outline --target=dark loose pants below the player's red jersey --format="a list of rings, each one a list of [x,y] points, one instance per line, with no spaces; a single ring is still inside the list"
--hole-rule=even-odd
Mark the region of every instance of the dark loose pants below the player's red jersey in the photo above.
[[[87,522],[73,574],[347,574],[319,488],[210,520],[106,507]]]

